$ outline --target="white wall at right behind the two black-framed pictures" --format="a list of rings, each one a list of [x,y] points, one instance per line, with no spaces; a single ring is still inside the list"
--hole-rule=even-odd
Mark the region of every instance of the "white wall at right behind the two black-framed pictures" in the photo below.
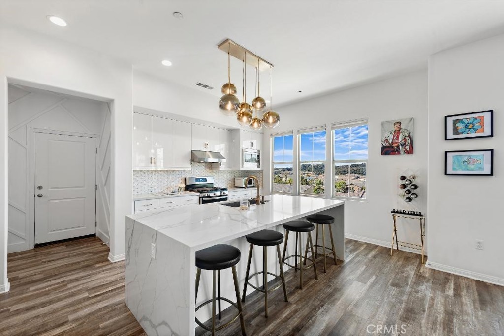
[[[504,285],[504,35],[429,59],[430,267]],[[494,111],[494,136],[445,141],[445,116]],[[445,176],[445,150],[494,149],[494,176]],[[476,239],[484,250],[476,250]]]

